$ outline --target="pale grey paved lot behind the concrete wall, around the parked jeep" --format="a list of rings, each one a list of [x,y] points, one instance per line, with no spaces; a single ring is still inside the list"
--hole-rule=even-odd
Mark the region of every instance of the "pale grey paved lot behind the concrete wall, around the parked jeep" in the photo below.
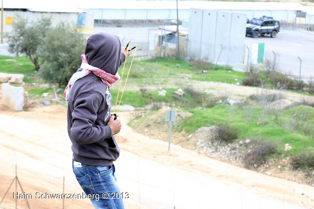
[[[154,49],[157,39],[154,34],[149,33],[149,29],[156,29],[155,26],[138,26],[138,27],[99,27],[95,26],[94,33],[107,32],[118,35],[123,44],[131,40],[134,45],[138,42],[147,42],[149,40],[149,50]],[[88,35],[88,34],[87,34]],[[133,46],[131,43],[131,46]],[[246,37],[245,44],[265,43],[265,57],[273,59],[273,51],[277,54],[279,68],[286,73],[299,76],[300,60],[302,60],[301,77],[314,77],[314,32],[307,33],[304,29],[281,30],[276,38],[270,38],[269,35],[257,39]],[[12,55],[7,52],[8,45],[0,45],[1,55]],[[146,55],[147,50],[137,51],[137,55]]]

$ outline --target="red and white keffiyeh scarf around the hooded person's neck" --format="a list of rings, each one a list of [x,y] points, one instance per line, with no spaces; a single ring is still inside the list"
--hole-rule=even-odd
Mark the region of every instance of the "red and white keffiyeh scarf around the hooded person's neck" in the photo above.
[[[102,69],[99,69],[97,67],[93,67],[87,63],[87,59],[85,54],[81,55],[82,57],[82,64],[81,68],[83,68],[82,71],[76,72],[72,75],[72,77],[69,80],[69,83],[67,87],[64,90],[64,98],[65,101],[68,104],[69,101],[69,95],[71,92],[71,88],[73,87],[75,81],[77,81],[80,78],[83,78],[84,76],[87,76],[90,72],[93,72],[96,76],[100,77],[101,80],[108,86],[111,87],[111,84],[117,82],[120,79],[120,76],[118,73],[116,75],[112,75]]]

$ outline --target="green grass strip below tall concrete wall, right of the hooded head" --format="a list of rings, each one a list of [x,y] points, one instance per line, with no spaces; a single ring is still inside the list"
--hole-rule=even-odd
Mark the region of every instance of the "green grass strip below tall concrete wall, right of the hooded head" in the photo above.
[[[126,67],[124,70],[124,77],[127,76],[131,58],[127,59]],[[122,74],[123,65],[119,69],[120,75]],[[244,76],[243,72],[232,70],[231,67],[216,66],[211,63],[187,63],[183,60],[158,58],[145,61],[136,61],[132,64],[128,82],[137,84],[152,84],[154,82],[163,83],[170,79],[184,79],[184,77],[198,81],[214,81],[222,83],[236,84]],[[203,73],[207,70],[207,73]],[[185,80],[182,79],[182,83]],[[237,79],[238,81],[236,81]]]

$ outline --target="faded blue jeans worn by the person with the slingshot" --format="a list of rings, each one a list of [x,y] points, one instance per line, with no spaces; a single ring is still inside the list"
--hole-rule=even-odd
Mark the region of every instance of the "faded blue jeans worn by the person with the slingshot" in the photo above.
[[[73,172],[95,208],[124,209],[115,166],[90,166],[73,160]]]

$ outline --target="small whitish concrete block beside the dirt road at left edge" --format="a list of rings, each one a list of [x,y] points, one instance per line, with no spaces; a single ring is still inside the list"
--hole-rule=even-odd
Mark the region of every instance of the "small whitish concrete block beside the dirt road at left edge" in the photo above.
[[[15,111],[23,110],[24,88],[11,86],[10,83],[2,83],[2,104]]]

